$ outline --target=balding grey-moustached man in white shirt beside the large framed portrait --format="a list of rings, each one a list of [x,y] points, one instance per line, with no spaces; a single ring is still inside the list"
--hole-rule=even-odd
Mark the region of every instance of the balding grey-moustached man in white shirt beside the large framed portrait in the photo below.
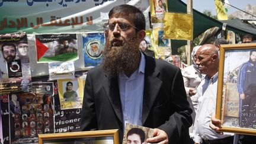
[[[196,65],[199,71],[205,74],[204,80],[197,88],[198,108],[194,123],[194,142],[203,144],[232,144],[233,134],[218,135],[210,129],[210,119],[215,113],[217,97],[217,76],[219,69],[219,55],[217,47],[213,44],[205,44],[197,50]]]

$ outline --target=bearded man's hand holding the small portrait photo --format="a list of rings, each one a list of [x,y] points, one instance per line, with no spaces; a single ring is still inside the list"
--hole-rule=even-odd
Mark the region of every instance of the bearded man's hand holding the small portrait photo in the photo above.
[[[161,144],[168,144],[168,136],[164,130],[161,129],[153,129],[153,137],[146,139],[147,143],[161,143]]]

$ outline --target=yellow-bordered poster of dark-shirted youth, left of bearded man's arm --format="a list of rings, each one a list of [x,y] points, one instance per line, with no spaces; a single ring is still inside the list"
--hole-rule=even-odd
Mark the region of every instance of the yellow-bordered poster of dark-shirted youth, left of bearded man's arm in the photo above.
[[[82,78],[58,79],[60,109],[82,108],[84,87]]]

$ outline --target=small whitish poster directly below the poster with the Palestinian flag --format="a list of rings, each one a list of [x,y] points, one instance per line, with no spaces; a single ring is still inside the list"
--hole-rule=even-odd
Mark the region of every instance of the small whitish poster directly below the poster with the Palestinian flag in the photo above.
[[[72,79],[75,78],[75,66],[73,62],[49,63],[49,79]]]

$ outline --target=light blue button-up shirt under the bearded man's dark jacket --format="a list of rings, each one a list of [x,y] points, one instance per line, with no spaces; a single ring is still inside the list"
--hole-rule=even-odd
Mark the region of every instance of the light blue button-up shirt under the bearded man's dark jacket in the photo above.
[[[119,73],[119,92],[123,111],[123,128],[126,123],[142,126],[142,104],[145,79],[145,56],[140,53],[140,65],[130,78]]]

